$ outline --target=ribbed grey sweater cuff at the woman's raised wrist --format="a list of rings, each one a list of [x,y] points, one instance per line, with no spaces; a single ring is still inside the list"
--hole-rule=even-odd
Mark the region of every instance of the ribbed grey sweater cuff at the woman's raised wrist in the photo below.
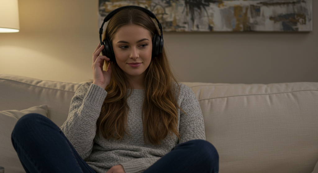
[[[89,86],[88,91],[84,100],[88,101],[89,103],[93,103],[94,105],[102,105],[104,100],[107,96],[107,91],[102,87],[91,84]]]

